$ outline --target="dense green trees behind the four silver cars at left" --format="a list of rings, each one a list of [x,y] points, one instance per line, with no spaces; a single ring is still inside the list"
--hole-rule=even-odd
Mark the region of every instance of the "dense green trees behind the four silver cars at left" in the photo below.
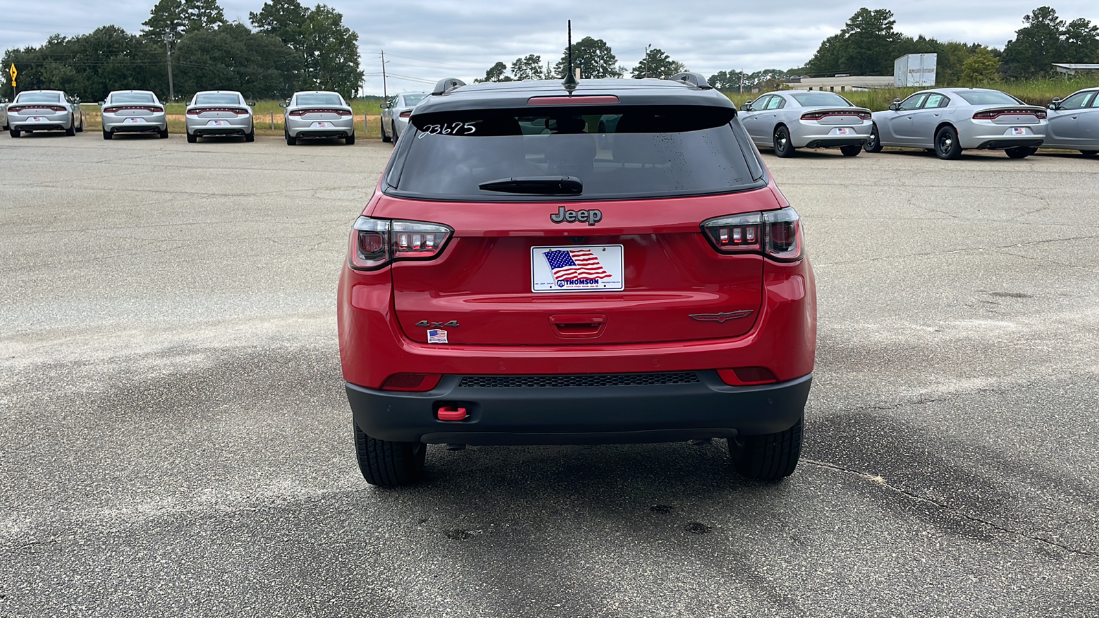
[[[19,69],[20,90],[65,90],[86,101],[127,89],[153,90],[162,100],[169,88],[177,98],[221,89],[256,99],[297,90],[351,98],[358,90],[358,34],[332,8],[268,0],[248,18],[252,27],[227,22],[217,0],[159,0],[140,34],[104,25],[80,36],[54,35],[38,47],[7,49],[2,63]],[[2,93],[14,93],[10,79]]]

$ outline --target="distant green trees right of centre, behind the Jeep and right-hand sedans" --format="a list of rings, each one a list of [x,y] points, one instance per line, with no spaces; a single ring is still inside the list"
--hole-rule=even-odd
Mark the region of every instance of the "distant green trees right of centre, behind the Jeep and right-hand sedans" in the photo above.
[[[1085,18],[1066,21],[1051,7],[1039,7],[1023,16],[1023,26],[1003,48],[978,43],[937,41],[923,35],[907,36],[897,32],[892,11],[859,9],[843,29],[821,42],[817,53],[801,67],[767,68],[752,73],[720,70],[709,82],[724,91],[753,88],[774,89],[797,76],[823,77],[847,75],[892,75],[893,59],[906,54],[937,54],[936,79],[940,84],[975,85],[997,79],[1020,80],[1047,77],[1053,63],[1099,63],[1099,26]],[[573,45],[573,64],[581,77],[623,77],[624,67],[610,45],[590,36]],[[515,58],[509,67],[496,63],[477,81],[513,79],[559,79],[568,66],[568,47],[551,68],[542,58],[529,55]],[[668,78],[686,67],[658,48],[648,49],[630,71],[634,78]]]

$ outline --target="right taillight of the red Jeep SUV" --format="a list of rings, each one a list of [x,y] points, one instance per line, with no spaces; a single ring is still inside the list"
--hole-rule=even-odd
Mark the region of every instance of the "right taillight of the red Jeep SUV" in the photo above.
[[[801,220],[792,208],[717,217],[702,232],[721,253],[763,253],[781,262],[801,258]]]

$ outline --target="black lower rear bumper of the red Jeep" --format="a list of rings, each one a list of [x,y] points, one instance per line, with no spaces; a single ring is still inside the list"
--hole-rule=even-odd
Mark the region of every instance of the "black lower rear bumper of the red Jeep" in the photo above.
[[[606,444],[776,433],[801,418],[812,374],[780,384],[729,386],[714,371],[693,384],[491,388],[445,376],[428,393],[347,384],[355,423],[368,435],[430,444]],[[440,406],[466,408],[441,421]]]

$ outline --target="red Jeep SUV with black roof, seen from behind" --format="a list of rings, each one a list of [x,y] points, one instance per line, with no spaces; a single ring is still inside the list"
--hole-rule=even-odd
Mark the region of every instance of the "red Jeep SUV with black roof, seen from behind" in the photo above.
[[[444,79],[351,232],[340,354],[363,476],[426,444],[725,438],[793,472],[817,342],[798,213],[732,102],[670,80]]]

